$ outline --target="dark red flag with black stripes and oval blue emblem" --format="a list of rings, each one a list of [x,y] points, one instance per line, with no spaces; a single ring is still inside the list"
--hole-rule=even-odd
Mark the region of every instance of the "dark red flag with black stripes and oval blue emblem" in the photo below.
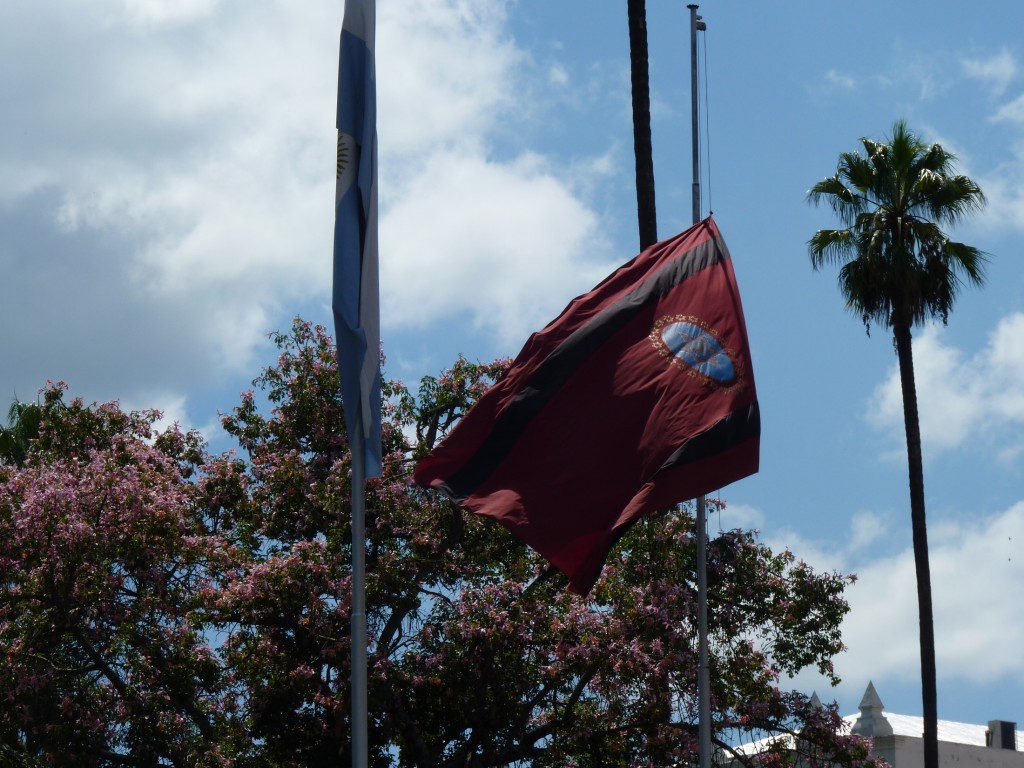
[[[534,334],[417,466],[586,595],[642,515],[758,471],[761,418],[732,260],[708,218]]]

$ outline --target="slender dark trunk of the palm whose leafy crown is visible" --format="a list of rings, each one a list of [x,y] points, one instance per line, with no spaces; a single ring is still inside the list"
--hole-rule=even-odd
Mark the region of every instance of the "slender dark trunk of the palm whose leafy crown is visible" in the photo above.
[[[900,386],[903,392],[903,423],[906,427],[906,456],[910,480],[910,525],[913,534],[913,563],[918,572],[925,768],[938,768],[939,716],[935,679],[935,625],[932,617],[932,575],[928,564],[928,526],[925,521],[925,470],[921,455],[921,422],[918,416],[918,389],[913,377],[910,324],[904,319],[896,319],[893,323],[893,338],[896,341]]]

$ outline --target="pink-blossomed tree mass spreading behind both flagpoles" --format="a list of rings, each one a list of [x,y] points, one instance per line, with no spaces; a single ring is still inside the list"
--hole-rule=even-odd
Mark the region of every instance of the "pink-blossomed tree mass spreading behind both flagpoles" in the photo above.
[[[47,390],[25,467],[0,467],[0,756],[33,765],[350,760],[350,470],[334,347],[296,322],[223,420],[245,460],[155,414]],[[696,750],[694,539],[641,521],[588,599],[489,521],[410,482],[502,375],[464,359],[386,386],[367,487],[374,766],[668,766]],[[261,404],[264,403],[264,404]],[[414,440],[415,436],[415,440]],[[415,444],[414,444],[415,443]],[[860,768],[835,707],[847,579],[751,532],[709,548],[712,703],[725,759]]]

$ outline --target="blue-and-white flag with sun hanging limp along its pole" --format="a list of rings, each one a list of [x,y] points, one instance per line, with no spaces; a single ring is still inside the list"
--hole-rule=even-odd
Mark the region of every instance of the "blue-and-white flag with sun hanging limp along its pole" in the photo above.
[[[332,301],[345,422],[352,450],[361,443],[367,477],[381,474],[375,23],[374,0],[346,0],[338,65]]]

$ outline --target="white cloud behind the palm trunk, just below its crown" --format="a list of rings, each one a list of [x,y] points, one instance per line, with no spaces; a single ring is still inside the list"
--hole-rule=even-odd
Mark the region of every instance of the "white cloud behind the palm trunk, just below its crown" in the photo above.
[[[926,455],[969,440],[987,439],[1016,453],[1024,423],[1024,313],[1005,317],[986,346],[967,357],[943,343],[942,329],[929,325],[913,341],[922,446]],[[867,418],[902,441],[903,398],[899,368],[874,390]],[[1017,426],[1015,427],[1014,424]]]

